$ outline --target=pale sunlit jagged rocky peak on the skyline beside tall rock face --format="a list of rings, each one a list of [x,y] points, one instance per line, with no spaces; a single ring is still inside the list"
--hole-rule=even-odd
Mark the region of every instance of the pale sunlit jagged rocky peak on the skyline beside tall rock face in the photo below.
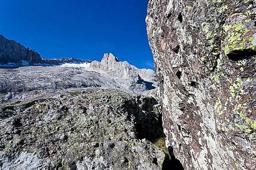
[[[151,69],[138,69],[127,61],[120,62],[113,54],[105,54],[101,62],[92,61],[86,70],[100,72],[107,75],[123,86],[134,92],[141,89],[155,89],[156,77]]]

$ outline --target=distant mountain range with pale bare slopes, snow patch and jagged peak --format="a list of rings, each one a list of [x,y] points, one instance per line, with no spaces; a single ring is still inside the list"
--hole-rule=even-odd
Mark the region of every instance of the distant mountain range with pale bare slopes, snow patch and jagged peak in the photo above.
[[[0,69],[0,77],[5,77],[0,79],[0,93],[11,93],[11,98],[30,96],[27,91],[43,90],[41,94],[53,89],[82,87],[145,94],[157,86],[153,70],[138,69],[127,61],[118,61],[113,54],[104,54],[100,62],[72,58],[41,59],[38,52],[3,36],[0,36]],[[17,82],[20,82],[18,86]]]

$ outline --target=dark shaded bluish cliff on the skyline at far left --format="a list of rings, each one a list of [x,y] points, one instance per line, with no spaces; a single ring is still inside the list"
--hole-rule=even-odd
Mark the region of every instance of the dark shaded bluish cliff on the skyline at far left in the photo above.
[[[0,64],[29,65],[40,62],[41,57],[37,52],[0,35]]]

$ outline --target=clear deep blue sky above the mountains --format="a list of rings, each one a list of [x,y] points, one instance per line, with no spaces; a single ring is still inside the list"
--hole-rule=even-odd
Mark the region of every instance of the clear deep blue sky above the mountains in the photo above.
[[[113,53],[152,68],[147,0],[1,0],[0,34],[41,57],[100,60]]]

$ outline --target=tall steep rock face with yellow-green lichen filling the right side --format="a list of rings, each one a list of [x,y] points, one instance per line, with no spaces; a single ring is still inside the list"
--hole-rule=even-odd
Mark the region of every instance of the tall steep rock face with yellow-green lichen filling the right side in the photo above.
[[[184,169],[255,169],[255,1],[152,1],[166,146]]]

